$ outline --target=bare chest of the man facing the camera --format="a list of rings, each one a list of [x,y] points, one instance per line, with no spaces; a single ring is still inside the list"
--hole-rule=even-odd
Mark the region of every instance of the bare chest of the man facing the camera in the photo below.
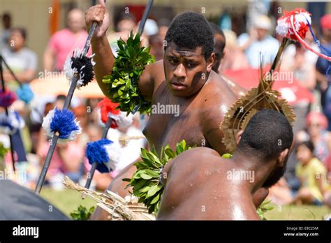
[[[154,96],[152,113],[143,132],[149,145],[154,145],[157,151],[165,145],[173,149],[183,139],[189,145],[205,144],[199,111],[193,99],[176,99],[167,91]]]

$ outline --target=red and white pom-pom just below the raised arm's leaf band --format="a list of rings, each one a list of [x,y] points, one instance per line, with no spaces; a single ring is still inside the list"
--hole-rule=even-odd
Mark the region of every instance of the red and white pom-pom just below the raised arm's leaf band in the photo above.
[[[103,98],[98,103],[98,108],[100,108],[101,121],[104,124],[107,123],[108,117],[112,119],[111,128],[126,128],[133,122],[133,115],[127,115],[126,112],[119,110],[118,103],[113,103],[109,98]]]

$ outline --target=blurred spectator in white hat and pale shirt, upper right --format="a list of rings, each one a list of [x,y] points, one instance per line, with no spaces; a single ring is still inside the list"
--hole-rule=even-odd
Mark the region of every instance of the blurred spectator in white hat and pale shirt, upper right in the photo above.
[[[270,18],[266,15],[259,15],[253,21],[250,33],[241,34],[237,40],[252,68],[260,66],[260,53],[264,65],[271,64],[277,55],[279,41],[268,34],[271,27]]]

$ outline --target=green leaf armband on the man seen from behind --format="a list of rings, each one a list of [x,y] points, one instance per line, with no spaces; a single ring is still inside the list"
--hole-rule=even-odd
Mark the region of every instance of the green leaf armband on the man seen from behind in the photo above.
[[[191,149],[186,146],[185,140],[177,143],[176,151],[172,151],[169,145],[161,149],[161,156],[156,153],[153,147],[151,151],[141,149],[141,159],[135,163],[137,170],[131,179],[123,179],[125,182],[130,182],[129,186],[133,186],[133,195],[139,198],[139,202],[143,202],[149,213],[156,214],[159,210],[159,204],[163,195],[164,186],[160,182],[160,173],[168,161],[174,159],[178,154]]]

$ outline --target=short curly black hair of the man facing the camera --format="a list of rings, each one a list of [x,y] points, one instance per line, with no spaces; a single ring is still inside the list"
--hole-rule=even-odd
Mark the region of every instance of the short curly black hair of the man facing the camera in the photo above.
[[[179,47],[190,50],[202,47],[202,54],[206,60],[214,48],[214,36],[209,23],[203,15],[191,11],[180,13],[172,20],[165,41],[173,41]],[[168,45],[165,45],[164,50],[167,47]]]

